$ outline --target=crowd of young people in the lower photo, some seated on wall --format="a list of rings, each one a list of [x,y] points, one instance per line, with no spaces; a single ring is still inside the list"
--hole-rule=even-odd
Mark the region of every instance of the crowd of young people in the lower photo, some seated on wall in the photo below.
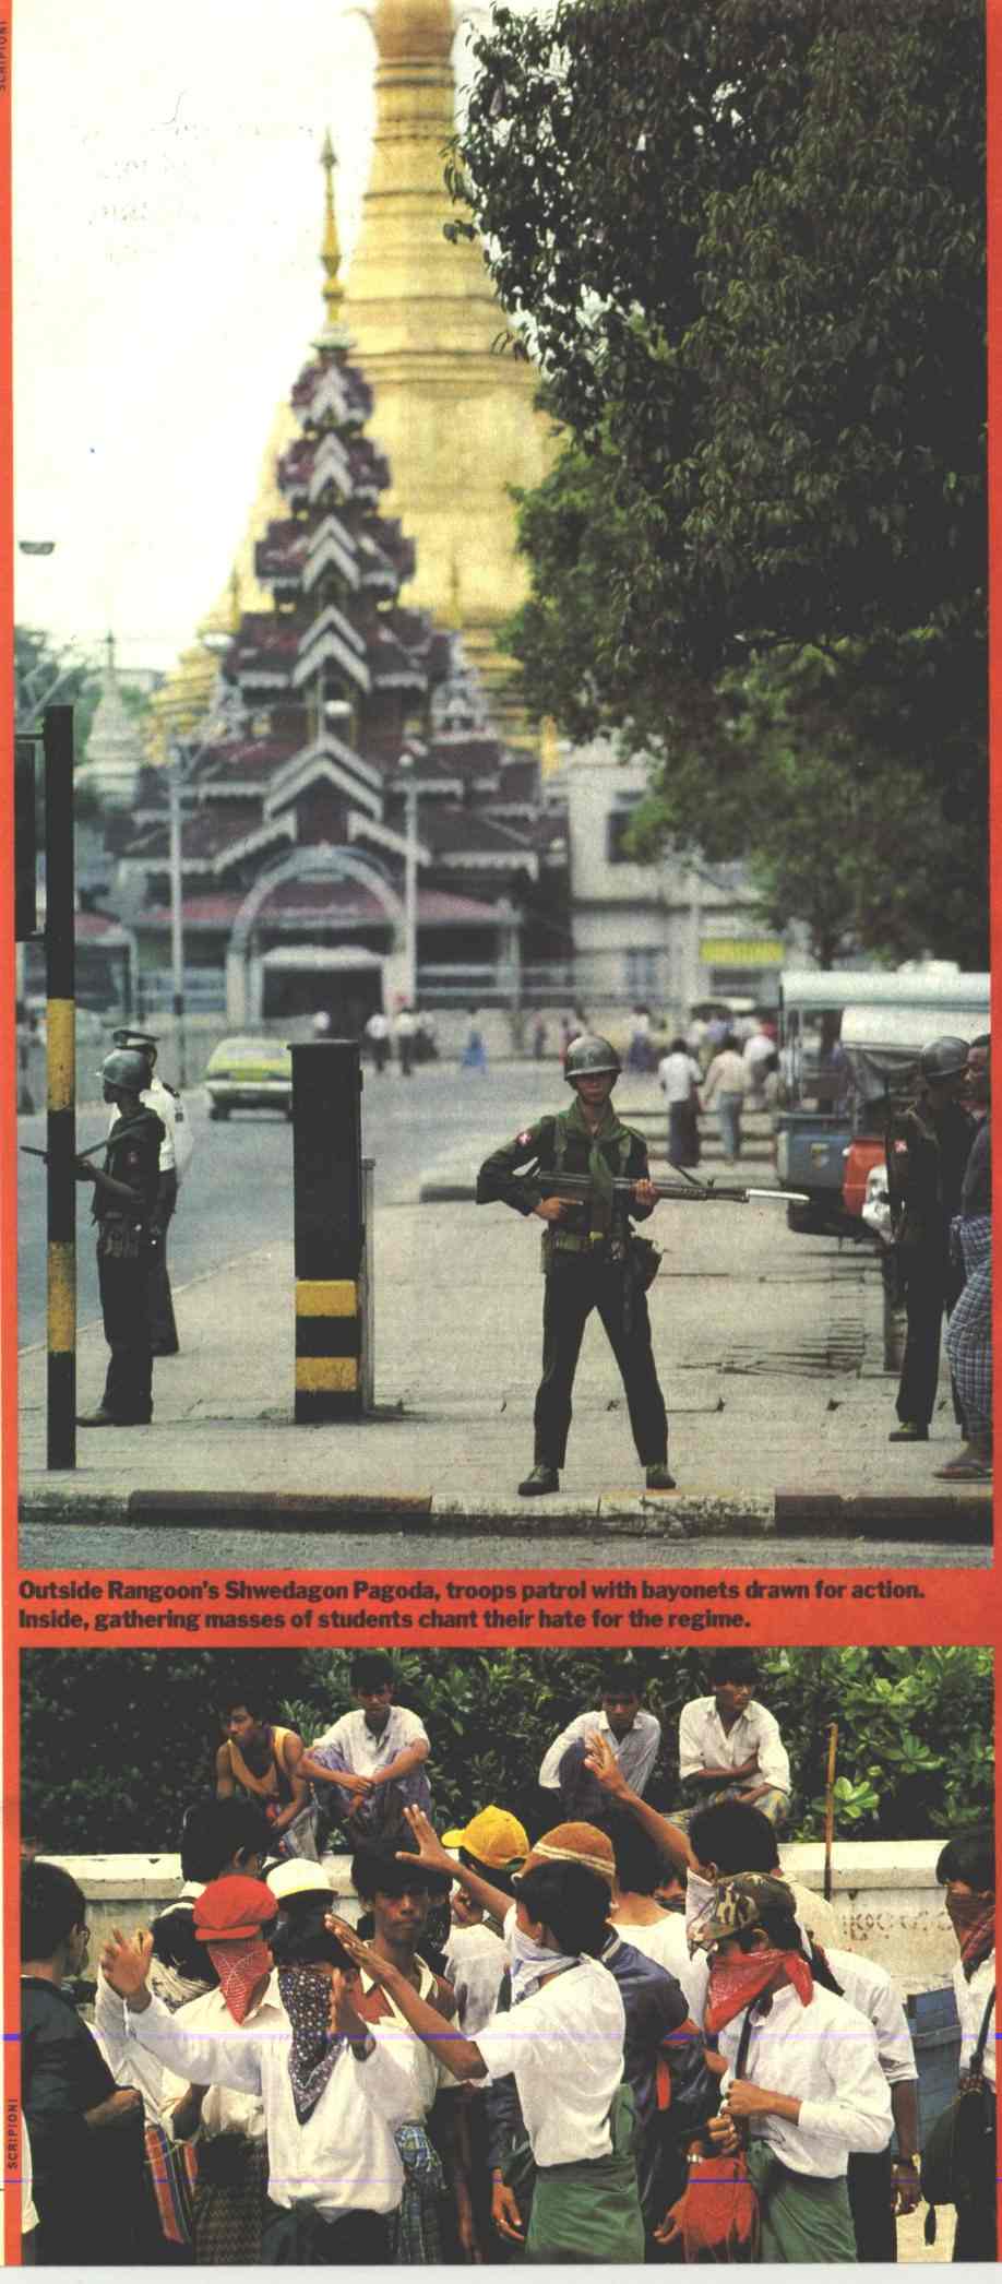
[[[358,1654],[351,1686],[310,1743],[224,1708],[215,1786],[178,1804],[180,1893],[91,1980],[78,1882],[23,1866],[34,2259],[895,2259],[920,2202],[908,2019],[783,1868],[797,1766],[753,1658],[719,1651],[682,1706],[669,1811],[660,1722],[612,1665],[541,1752],[534,1839],[477,1798],[438,1836],[393,1663]],[[952,1836],[938,1880],[984,2101],[954,2257],[991,2259],[991,1832]]]

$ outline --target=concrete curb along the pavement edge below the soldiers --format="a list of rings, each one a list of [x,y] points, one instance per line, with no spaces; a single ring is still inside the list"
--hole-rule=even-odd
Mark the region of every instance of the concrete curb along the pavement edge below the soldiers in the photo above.
[[[815,1530],[842,1537],[922,1537],[931,1542],[991,1544],[991,1491],[945,1491],[940,1496],[895,1494],[865,1498],[822,1491],[771,1494],[616,1494],[593,1498],[557,1491],[550,1498],[459,1496],[454,1491],[103,1491],[66,1485],[21,1491],[23,1523],[210,1523],[212,1528],[294,1530],[304,1523],[331,1530],[367,1523],[374,1530],[443,1530],[456,1526],[491,1537],[500,1526],[536,1535],[573,1537],[593,1523],[605,1537],[651,1539],[744,1537],[781,1539]],[[963,1537],[961,1537],[963,1533]],[[819,1555],[822,1558],[822,1555]]]

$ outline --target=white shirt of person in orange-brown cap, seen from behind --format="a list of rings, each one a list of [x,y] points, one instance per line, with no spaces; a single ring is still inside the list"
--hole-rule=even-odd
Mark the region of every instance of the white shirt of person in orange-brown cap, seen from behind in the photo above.
[[[566,1967],[477,2033],[491,2076],[514,2074],[536,2165],[609,2156],[623,2037],[623,2001],[598,1960]]]

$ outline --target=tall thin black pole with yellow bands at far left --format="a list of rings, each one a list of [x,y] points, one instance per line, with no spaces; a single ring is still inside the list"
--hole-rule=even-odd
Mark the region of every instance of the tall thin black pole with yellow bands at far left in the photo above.
[[[48,1466],[78,1464],[73,706],[46,706]]]

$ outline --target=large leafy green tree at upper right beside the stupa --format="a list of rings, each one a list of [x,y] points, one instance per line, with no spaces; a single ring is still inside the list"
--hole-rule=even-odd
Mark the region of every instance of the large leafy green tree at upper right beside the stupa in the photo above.
[[[956,884],[986,802],[981,0],[561,0],[500,9],[477,57],[454,167],[472,219],[454,231],[484,233],[568,432],[520,502],[532,594],[504,640],[527,703],[648,754],[651,829],[705,847],[710,829],[708,854],[749,854],[783,918],[851,948],[874,948],[888,866],[833,882],[819,914],[776,870],[765,802],[826,866],[829,767],[845,793],[849,772],[876,779],[863,831],[902,866],[934,861],[922,941],[972,957],[984,866],[961,911]],[[829,656],[838,729],[810,751],[785,738],[778,770],[760,708],[758,745],[749,724],[733,735],[735,690],[799,653],[815,683]],[[915,925],[895,911],[886,950],[915,948]]]

